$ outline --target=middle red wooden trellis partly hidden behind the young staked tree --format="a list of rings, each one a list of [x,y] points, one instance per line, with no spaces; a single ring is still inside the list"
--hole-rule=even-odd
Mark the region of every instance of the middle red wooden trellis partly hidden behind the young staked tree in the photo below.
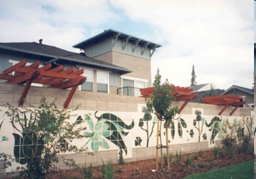
[[[176,101],[185,100],[185,102],[183,103],[183,105],[180,107],[178,111],[178,113],[180,114],[184,109],[184,107],[188,104],[190,99],[197,97],[197,94],[192,94],[191,92],[193,91],[193,89],[190,89],[190,88],[184,88],[180,86],[172,86],[172,88],[174,88],[173,95],[176,97],[175,99]],[[140,89],[140,93],[142,97],[150,97],[150,94],[153,93],[153,88],[150,87],[150,88]]]

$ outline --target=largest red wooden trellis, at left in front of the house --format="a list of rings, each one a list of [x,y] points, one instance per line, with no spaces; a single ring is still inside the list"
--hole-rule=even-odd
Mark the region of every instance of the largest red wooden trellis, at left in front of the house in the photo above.
[[[27,97],[31,84],[37,83],[50,85],[52,88],[71,88],[64,102],[64,108],[67,108],[77,87],[86,81],[86,77],[81,76],[84,73],[83,69],[74,71],[74,67],[72,67],[63,70],[63,66],[51,69],[51,64],[38,68],[40,65],[39,61],[30,66],[25,66],[26,64],[27,60],[22,60],[18,64],[4,70],[3,74],[0,74],[0,79],[7,80],[6,83],[25,84],[19,99],[19,105],[23,105],[24,98]],[[14,74],[12,74],[13,72]]]

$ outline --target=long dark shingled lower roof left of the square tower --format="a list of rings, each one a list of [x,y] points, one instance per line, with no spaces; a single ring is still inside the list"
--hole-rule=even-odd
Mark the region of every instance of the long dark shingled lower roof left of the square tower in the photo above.
[[[128,70],[120,66],[108,64],[107,62],[102,62],[100,60],[90,58],[85,54],[78,54],[75,52],[70,52],[67,50],[63,50],[61,48],[57,48],[55,46],[49,46],[37,42],[0,42],[0,49],[11,50],[15,52],[24,52],[27,54],[33,54],[37,56],[46,56],[50,59],[53,58],[52,60],[45,62],[45,64],[49,64],[57,60],[64,60],[68,62],[83,64],[85,66],[92,66],[96,68],[104,68],[106,70],[118,71],[120,72],[120,74],[127,74],[132,72],[132,70]]]

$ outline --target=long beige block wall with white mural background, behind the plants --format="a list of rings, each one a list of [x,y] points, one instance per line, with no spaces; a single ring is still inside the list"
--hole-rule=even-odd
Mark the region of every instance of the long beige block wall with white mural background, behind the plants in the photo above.
[[[20,85],[0,84],[0,104],[11,103],[11,105],[17,106],[22,91],[23,86]],[[57,105],[62,108],[67,95],[68,90],[31,87],[27,95],[27,101],[37,107],[41,97],[47,97],[47,101],[49,102],[57,97]],[[94,153],[94,156],[86,153],[65,154],[65,156],[73,158],[80,165],[85,163],[98,165],[101,164],[102,160],[107,161],[109,159],[112,159],[113,162],[118,162],[118,152],[120,151],[122,151],[126,161],[142,160],[156,156],[156,117],[150,114],[152,118],[148,118],[148,120],[146,118],[144,119],[145,113],[142,111],[143,107],[146,106],[144,98],[76,91],[70,102],[70,109],[74,109],[79,103],[81,106],[75,111],[75,114],[80,115],[84,120],[90,119],[92,121],[90,123],[92,126],[88,125],[88,123],[85,124],[87,127],[86,132],[101,134],[101,141],[94,141],[92,143],[93,140],[90,140],[91,137],[82,141],[73,141],[74,145],[88,147]],[[182,101],[178,101],[174,102],[173,105],[180,107],[182,103]],[[174,134],[171,135],[171,129],[168,132],[170,151],[175,153],[176,151],[182,150],[183,153],[186,153],[207,150],[213,147],[215,145],[214,143],[219,140],[217,136],[213,136],[213,125],[209,125],[213,119],[221,120],[228,118],[230,121],[233,121],[234,119],[239,120],[245,117],[251,117],[253,114],[253,109],[241,108],[237,109],[230,117],[229,113],[231,113],[233,107],[228,107],[221,116],[218,116],[222,108],[222,106],[217,105],[188,103],[182,113],[175,117]],[[3,115],[6,109],[1,107],[1,110],[3,111],[0,111],[0,123],[3,121],[3,125],[0,129],[0,139],[2,139],[0,150],[1,152],[13,154],[13,133],[19,134],[19,132],[13,129],[11,123],[9,123],[9,119]],[[197,130],[193,125],[193,120],[197,117],[195,115],[196,110],[201,111],[202,120],[198,122],[201,127],[200,130]],[[116,123],[112,117],[118,117],[126,125]],[[114,124],[115,129],[108,129],[108,131],[111,131],[113,135],[118,135],[119,138],[117,141],[122,143],[122,145],[116,145],[113,140],[108,139],[108,136],[102,135],[102,131],[92,131],[94,130],[93,125],[100,123],[99,119],[104,119]],[[73,118],[70,120],[75,121]],[[121,131],[124,131],[126,135],[123,135]],[[199,131],[202,132],[200,133]],[[151,133],[152,135],[150,135]],[[148,140],[147,134],[150,135]],[[164,130],[162,130],[162,137],[163,141],[165,141]],[[102,141],[106,143],[102,143]],[[13,165],[13,167],[15,166],[21,166],[21,164]],[[64,164],[60,163],[59,168],[65,168]],[[7,169],[6,172],[10,170],[11,168]],[[0,170],[0,172],[5,171]]]

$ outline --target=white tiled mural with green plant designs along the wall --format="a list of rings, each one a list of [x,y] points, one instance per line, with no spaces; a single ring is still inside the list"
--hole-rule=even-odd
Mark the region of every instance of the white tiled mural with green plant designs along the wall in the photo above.
[[[3,115],[5,109],[0,108],[3,109],[0,111],[0,150],[18,158],[19,164],[25,164],[23,155],[33,154],[29,147],[33,146],[33,140],[39,143],[41,141],[41,145],[43,140],[36,139],[35,135],[28,133],[26,126],[13,126]],[[208,141],[209,147],[213,147],[215,140],[218,139],[217,126],[221,123],[222,117],[203,115],[203,109],[192,111],[190,115],[177,115],[172,120],[169,129],[170,145]],[[72,120],[85,120],[87,128],[83,132],[87,138],[83,141],[74,141],[74,145],[78,147],[88,147],[93,152],[116,149],[124,158],[130,158],[133,148],[156,146],[157,119],[153,113],[149,113],[145,105],[138,105],[137,113],[78,110],[76,116],[78,117]],[[235,117],[229,119],[235,121]],[[245,128],[246,124],[241,131]]]

